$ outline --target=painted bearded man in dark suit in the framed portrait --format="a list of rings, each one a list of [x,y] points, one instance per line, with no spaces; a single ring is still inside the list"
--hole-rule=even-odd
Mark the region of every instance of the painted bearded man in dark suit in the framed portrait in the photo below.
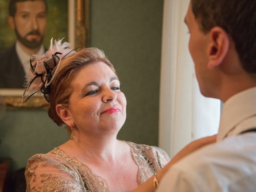
[[[0,88],[23,88],[30,57],[44,50],[46,12],[45,0],[10,0],[8,22],[17,40],[0,53]]]

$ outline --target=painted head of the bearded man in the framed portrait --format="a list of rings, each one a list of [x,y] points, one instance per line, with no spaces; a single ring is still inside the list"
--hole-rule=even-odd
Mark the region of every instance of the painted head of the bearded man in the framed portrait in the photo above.
[[[30,49],[39,48],[46,29],[45,0],[10,0],[9,24],[18,41]]]

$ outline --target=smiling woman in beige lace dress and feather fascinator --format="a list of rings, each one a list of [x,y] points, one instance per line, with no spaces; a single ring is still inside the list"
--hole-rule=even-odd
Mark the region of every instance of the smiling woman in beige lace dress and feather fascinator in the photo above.
[[[71,138],[28,160],[26,191],[131,191],[169,157],[160,148],[116,139],[126,119],[126,98],[114,66],[97,48],[75,53],[64,44],[56,42],[32,58],[24,97],[41,90],[50,118],[66,124]]]

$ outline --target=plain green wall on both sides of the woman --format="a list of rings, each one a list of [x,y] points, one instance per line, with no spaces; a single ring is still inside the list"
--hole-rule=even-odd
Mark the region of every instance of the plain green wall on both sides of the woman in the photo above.
[[[127,99],[121,140],[158,144],[162,6],[163,0],[90,2],[90,46],[104,50],[114,64]],[[14,170],[67,139],[46,110],[7,110],[0,120],[0,157],[11,157]]]

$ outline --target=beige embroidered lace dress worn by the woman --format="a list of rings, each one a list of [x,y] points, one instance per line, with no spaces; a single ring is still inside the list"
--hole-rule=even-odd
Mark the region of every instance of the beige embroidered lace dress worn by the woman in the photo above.
[[[139,167],[138,182],[142,184],[170,160],[164,150],[144,144],[126,142]],[[110,192],[106,180],[90,167],[68,156],[60,148],[47,154],[32,156],[26,166],[26,192]]]

